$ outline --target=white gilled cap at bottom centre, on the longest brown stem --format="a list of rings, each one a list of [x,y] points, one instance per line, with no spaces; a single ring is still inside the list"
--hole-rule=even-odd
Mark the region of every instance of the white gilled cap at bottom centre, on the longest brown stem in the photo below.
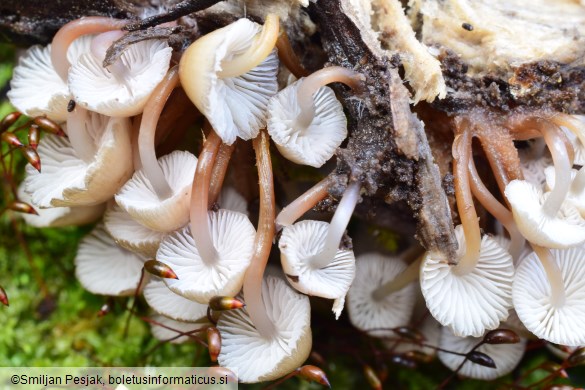
[[[311,352],[309,298],[274,276],[264,278],[262,298],[266,314],[276,327],[274,337],[262,337],[245,308],[224,312],[217,323],[222,339],[219,364],[236,369],[244,383],[269,381],[288,374]]]

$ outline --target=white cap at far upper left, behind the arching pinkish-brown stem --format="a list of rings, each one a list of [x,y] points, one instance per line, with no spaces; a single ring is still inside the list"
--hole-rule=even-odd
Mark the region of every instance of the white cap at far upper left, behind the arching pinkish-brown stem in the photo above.
[[[81,37],[71,44],[67,51],[69,62],[77,62],[77,58],[89,50],[90,40],[90,36]],[[47,115],[55,122],[67,119],[67,104],[71,94],[67,84],[53,68],[51,45],[33,46],[20,57],[7,96],[18,111],[28,116]]]

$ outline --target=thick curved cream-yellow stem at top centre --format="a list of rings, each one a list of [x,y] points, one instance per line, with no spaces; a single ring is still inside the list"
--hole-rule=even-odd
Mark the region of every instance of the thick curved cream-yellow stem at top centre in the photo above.
[[[278,16],[268,14],[262,32],[256,36],[254,43],[245,52],[222,62],[222,69],[218,72],[218,76],[221,78],[238,77],[260,65],[274,49],[279,29]]]

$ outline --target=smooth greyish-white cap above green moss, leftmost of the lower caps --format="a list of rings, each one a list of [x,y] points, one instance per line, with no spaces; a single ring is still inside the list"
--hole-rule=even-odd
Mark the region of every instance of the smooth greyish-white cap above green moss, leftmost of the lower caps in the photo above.
[[[116,245],[98,226],[79,244],[75,275],[94,294],[130,295],[138,287],[143,264],[143,258]]]

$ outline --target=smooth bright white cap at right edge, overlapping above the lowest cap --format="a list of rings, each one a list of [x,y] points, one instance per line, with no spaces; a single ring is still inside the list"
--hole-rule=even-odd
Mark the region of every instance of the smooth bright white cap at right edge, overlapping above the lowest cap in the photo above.
[[[585,220],[567,202],[556,216],[545,214],[542,206],[547,194],[525,180],[512,180],[506,186],[518,230],[532,243],[548,248],[568,248],[585,242]]]

